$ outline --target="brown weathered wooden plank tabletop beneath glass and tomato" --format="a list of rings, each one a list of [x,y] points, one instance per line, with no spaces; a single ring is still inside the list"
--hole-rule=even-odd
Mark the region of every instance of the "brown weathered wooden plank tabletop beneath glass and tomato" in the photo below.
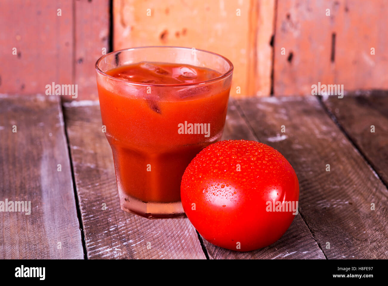
[[[98,101],[0,95],[0,201],[31,201],[0,213],[0,258],[388,258],[387,92],[230,100],[223,138],[273,146],[300,183],[286,234],[246,253],[121,211],[101,126]]]

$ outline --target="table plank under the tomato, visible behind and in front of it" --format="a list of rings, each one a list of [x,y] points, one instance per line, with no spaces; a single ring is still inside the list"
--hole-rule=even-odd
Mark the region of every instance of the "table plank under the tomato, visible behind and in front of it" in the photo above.
[[[256,136],[241,117],[238,104],[231,100],[228,106],[227,121],[223,133],[223,140],[255,140]],[[256,108],[255,105],[252,108]],[[306,223],[300,214],[296,215],[286,233],[274,244],[249,252],[230,251],[214,246],[203,239],[210,259],[325,259]]]

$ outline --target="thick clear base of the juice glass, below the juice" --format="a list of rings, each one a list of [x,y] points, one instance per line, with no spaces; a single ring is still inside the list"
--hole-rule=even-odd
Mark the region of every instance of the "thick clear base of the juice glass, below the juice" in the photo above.
[[[120,191],[120,207],[123,211],[145,218],[185,218],[181,202],[142,202]]]

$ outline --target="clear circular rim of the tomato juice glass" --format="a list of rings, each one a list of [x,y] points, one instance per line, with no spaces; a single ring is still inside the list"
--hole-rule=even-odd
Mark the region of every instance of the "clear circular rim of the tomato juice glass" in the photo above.
[[[96,71],[98,73],[100,73],[101,75],[107,77],[107,78],[110,78],[112,80],[117,80],[117,81],[123,82],[125,84],[141,85],[141,86],[159,86],[159,87],[175,87],[175,86],[180,87],[180,86],[200,85],[200,84],[208,84],[208,83],[211,83],[211,82],[215,82],[215,81],[221,80],[221,79],[229,76],[233,72],[233,69],[234,69],[234,66],[233,66],[232,62],[229,59],[227,59],[224,56],[221,56],[220,54],[217,54],[215,52],[209,52],[209,51],[205,51],[205,50],[201,50],[201,49],[196,49],[196,51],[206,52],[208,54],[213,54],[215,56],[218,56],[218,57],[224,59],[229,64],[229,66],[230,66],[229,70],[227,70],[227,72],[223,73],[222,75],[220,75],[218,77],[211,78],[211,79],[208,79],[208,80],[202,80],[202,81],[199,81],[199,82],[182,82],[182,83],[178,83],[178,84],[151,84],[151,83],[147,84],[147,83],[141,83],[141,82],[130,82],[128,80],[124,80],[124,79],[121,79],[121,78],[112,77],[111,75],[108,75],[106,72],[103,72],[99,68],[99,66],[98,66],[100,61],[103,58],[105,58],[106,56],[109,56],[111,54],[115,54],[115,53],[119,53],[119,52],[124,52],[124,51],[146,49],[146,48],[177,48],[177,49],[186,49],[186,50],[191,50],[192,49],[192,48],[188,48],[188,47],[177,47],[177,46],[142,46],[142,47],[133,47],[133,48],[121,49],[121,50],[109,52],[106,55],[103,55],[99,59],[97,59],[97,61],[95,63]]]

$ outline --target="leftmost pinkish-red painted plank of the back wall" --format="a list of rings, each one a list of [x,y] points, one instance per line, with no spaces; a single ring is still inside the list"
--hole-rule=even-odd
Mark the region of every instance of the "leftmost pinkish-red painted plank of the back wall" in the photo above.
[[[73,1],[5,0],[0,11],[1,92],[44,94],[52,82],[71,84]]]

